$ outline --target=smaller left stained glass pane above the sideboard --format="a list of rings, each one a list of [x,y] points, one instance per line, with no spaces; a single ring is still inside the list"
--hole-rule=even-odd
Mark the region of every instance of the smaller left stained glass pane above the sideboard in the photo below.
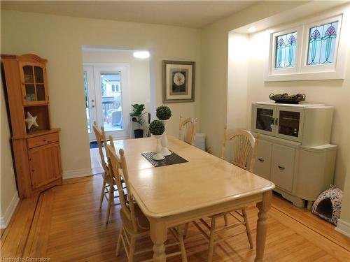
[[[274,68],[294,67],[296,48],[297,32],[277,36]]]

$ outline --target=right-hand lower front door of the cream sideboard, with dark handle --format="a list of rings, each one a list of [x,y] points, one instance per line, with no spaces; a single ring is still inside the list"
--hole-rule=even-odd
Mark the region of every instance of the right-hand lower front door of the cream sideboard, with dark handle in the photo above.
[[[295,149],[283,145],[272,146],[271,181],[277,187],[293,190]]]

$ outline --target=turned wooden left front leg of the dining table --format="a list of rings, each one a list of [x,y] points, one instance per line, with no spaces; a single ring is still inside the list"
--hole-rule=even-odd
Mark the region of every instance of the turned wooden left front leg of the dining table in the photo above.
[[[165,245],[167,227],[162,219],[150,219],[151,240],[153,242],[153,261],[165,262]]]

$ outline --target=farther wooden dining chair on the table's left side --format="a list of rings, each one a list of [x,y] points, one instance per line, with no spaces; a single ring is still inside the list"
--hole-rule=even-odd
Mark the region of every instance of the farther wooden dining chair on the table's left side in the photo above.
[[[109,216],[111,214],[111,208],[114,205],[119,205],[119,202],[116,202],[115,199],[119,198],[118,191],[114,188],[116,182],[114,181],[113,175],[111,174],[111,166],[108,163],[108,152],[106,150],[107,139],[106,133],[104,133],[104,127],[101,129],[97,126],[97,123],[94,122],[92,128],[94,129],[94,134],[96,136],[97,145],[99,146],[99,156],[101,157],[102,168],[104,169],[104,173],[102,173],[102,177],[104,181],[102,182],[102,190],[101,197],[99,201],[99,208],[102,208],[102,203],[104,198],[107,201],[107,214],[106,214],[106,224],[109,222]],[[110,142],[113,144],[113,138]],[[106,157],[105,157],[106,156]],[[106,162],[107,160],[107,162]]]

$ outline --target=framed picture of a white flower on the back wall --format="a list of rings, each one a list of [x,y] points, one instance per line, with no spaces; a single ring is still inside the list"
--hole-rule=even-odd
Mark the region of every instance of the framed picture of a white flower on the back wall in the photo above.
[[[163,103],[195,101],[195,62],[163,61]]]

